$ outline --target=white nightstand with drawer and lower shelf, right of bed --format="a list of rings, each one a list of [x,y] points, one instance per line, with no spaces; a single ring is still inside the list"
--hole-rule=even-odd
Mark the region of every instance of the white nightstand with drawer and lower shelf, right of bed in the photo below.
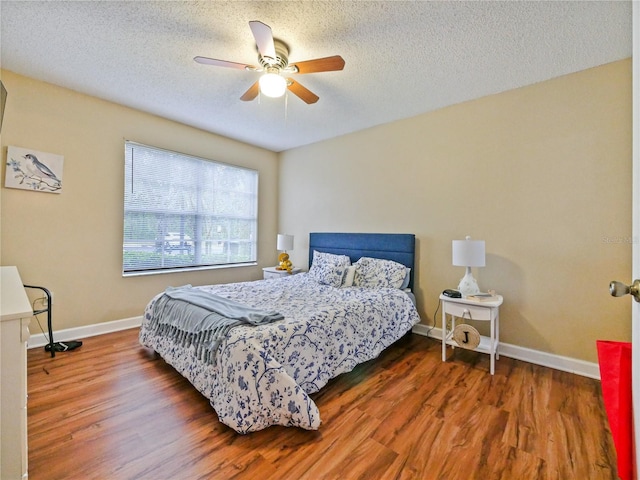
[[[475,351],[488,353],[491,357],[491,375],[495,373],[496,358],[500,358],[498,346],[500,344],[500,305],[502,297],[496,295],[492,300],[471,300],[467,298],[451,298],[440,295],[442,301],[442,361],[447,361],[447,345],[455,348],[458,346],[453,339],[453,329],[456,328],[456,319],[460,322],[485,321],[491,322],[489,336],[480,336],[480,344]],[[451,316],[451,322],[447,322],[447,315]]]

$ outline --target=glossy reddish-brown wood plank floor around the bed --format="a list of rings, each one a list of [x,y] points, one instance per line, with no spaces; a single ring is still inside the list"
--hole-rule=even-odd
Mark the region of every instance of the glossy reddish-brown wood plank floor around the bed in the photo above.
[[[138,330],[28,351],[29,478],[615,479],[600,382],[408,335],[313,398],[318,431],[238,435]]]

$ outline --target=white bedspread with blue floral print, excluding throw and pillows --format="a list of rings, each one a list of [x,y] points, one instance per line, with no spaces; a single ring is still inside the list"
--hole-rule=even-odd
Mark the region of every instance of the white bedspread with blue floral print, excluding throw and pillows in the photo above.
[[[193,347],[147,328],[160,295],[145,310],[140,343],[184,375],[210,400],[220,421],[239,433],[270,425],[317,429],[320,412],[309,394],[377,357],[420,321],[399,289],[335,288],[306,273],[196,288],[285,316],[233,328],[211,365],[198,360]]]

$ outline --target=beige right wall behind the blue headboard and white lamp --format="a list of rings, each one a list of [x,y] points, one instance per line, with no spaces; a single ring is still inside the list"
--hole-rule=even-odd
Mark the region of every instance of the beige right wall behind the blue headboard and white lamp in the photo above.
[[[464,273],[451,240],[484,239],[502,340],[595,362],[631,338],[608,293],[631,279],[631,60],[284,152],[280,227],[297,265],[310,231],[415,233],[423,323]]]

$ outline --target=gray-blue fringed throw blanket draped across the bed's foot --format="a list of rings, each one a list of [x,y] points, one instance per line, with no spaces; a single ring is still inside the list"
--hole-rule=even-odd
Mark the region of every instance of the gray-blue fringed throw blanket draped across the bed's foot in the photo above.
[[[201,361],[215,365],[218,345],[233,327],[283,318],[186,285],[169,287],[156,300],[149,327],[183,347],[193,345]]]

